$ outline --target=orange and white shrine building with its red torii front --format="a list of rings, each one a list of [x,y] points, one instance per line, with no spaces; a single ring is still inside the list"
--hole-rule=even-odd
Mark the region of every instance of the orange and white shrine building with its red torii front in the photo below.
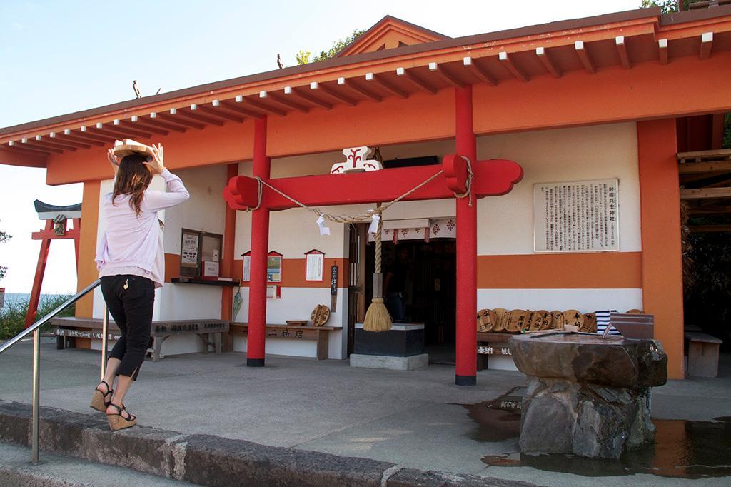
[[[83,183],[83,289],[98,276],[107,149],[162,143],[191,197],[160,214],[154,320],[229,322],[224,350],[250,366],[354,352],[374,294],[371,218],[317,220],[403,197],[382,214],[384,272],[404,255],[390,280],[404,321],[424,323],[425,350],[455,363],[458,384],[477,379],[480,309],[642,310],[683,378],[678,152],[713,148],[695,128],[718,132],[729,80],[731,6],[455,38],[386,16],[326,61],[5,127],[0,164]],[[317,305],[330,312],[317,339],[274,326]],[[76,316],[102,310],[97,289]],[[160,352],[205,348],[181,333]]]

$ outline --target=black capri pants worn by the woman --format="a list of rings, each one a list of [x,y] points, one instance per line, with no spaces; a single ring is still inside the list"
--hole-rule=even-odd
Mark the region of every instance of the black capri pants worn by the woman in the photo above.
[[[102,295],[121,331],[110,358],[121,360],[117,375],[137,380],[150,343],[155,283],[140,276],[103,276]]]

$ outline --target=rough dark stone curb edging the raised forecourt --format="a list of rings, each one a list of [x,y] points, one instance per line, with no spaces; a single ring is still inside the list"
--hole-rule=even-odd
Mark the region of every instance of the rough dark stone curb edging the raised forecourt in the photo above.
[[[476,475],[398,469],[369,458],[135,426],[112,432],[101,413],[42,407],[40,448],[204,486],[530,486]],[[0,400],[0,441],[31,443],[31,407]],[[388,472],[387,472],[388,471]],[[390,476],[389,476],[390,475]]]

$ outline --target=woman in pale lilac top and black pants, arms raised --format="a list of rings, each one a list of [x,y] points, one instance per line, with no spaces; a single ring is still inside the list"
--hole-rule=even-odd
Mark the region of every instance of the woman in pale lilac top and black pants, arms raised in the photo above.
[[[160,144],[151,147],[151,155],[129,154],[121,162],[112,149],[107,156],[115,181],[113,192],[102,200],[106,231],[96,246],[96,265],[102,295],[121,337],[110,353],[104,380],[94,390],[91,407],[106,412],[115,431],[137,423],[123,401],[145,360],[155,289],[164,280],[162,222],[157,212],[190,195],[181,178],[165,169]],[[155,174],[164,178],[167,192],[147,189]]]

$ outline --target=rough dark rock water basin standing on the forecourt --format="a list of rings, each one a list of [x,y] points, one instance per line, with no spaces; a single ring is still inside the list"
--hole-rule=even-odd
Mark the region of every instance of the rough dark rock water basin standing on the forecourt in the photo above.
[[[528,376],[521,453],[619,458],[654,439],[650,388],[667,382],[658,342],[531,333],[508,344]]]

